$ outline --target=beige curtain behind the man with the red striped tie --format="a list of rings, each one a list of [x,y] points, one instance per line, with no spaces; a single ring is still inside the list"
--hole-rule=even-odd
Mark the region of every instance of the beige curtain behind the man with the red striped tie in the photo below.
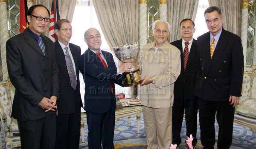
[[[189,18],[195,21],[199,0],[167,0],[167,21],[171,24],[169,41],[180,39],[180,21]]]

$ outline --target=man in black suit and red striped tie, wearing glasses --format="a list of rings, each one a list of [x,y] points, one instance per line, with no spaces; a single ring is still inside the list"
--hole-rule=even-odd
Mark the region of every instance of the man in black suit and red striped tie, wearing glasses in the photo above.
[[[194,96],[195,74],[197,64],[197,40],[193,39],[195,23],[190,19],[180,22],[182,39],[172,42],[180,49],[181,71],[174,84],[174,103],[172,107],[172,144],[181,143],[180,131],[182,127],[184,109],[186,118],[186,135],[194,137],[192,145],[197,143],[197,112],[198,101]]]

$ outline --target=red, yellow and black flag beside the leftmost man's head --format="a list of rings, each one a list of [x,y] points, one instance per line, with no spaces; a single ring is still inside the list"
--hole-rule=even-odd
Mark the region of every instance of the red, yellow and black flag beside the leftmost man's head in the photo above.
[[[27,11],[28,5],[26,0],[20,0],[20,33],[22,33],[27,28]]]

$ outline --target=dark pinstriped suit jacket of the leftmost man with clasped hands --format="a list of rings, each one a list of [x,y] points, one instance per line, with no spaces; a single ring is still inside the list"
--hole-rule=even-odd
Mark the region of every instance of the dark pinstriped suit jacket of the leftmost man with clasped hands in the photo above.
[[[42,39],[46,56],[27,29],[6,42],[8,73],[16,89],[12,116],[20,121],[36,120],[44,118],[46,114],[55,113],[44,112],[45,110],[38,106],[43,97],[59,97],[54,44],[44,35]]]

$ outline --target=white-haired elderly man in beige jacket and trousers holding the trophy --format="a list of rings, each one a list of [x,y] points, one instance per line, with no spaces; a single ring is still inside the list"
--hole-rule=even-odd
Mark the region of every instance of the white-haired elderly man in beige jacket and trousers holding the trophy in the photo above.
[[[171,25],[157,20],[151,33],[155,41],[143,46],[140,64],[147,149],[169,149],[172,144],[172,105],[174,82],[180,75],[180,50],[169,44]]]

